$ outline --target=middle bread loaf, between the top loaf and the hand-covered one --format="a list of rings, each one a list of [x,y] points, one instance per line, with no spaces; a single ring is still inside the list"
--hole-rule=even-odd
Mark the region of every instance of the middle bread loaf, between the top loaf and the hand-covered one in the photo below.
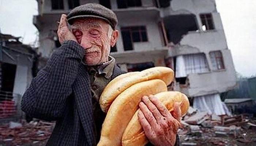
[[[97,146],[121,146],[125,128],[138,109],[142,96],[167,91],[159,79],[139,82],[120,93],[111,104],[102,124],[101,139]]]

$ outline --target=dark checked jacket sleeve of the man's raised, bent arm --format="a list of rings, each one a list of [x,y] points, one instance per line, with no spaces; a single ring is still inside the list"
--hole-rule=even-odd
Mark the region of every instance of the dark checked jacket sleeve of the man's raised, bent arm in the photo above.
[[[32,79],[22,97],[22,110],[38,119],[61,118],[83,55],[84,49],[77,42],[65,41]]]

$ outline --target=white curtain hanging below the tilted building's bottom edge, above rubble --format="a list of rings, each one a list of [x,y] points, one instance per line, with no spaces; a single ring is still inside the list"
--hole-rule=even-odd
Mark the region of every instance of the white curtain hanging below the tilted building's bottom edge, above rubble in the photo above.
[[[223,107],[221,97],[219,94],[197,96],[193,100],[193,108],[197,108],[199,111],[207,111],[208,114],[216,115],[229,115],[230,112]],[[227,111],[228,112],[227,112]]]

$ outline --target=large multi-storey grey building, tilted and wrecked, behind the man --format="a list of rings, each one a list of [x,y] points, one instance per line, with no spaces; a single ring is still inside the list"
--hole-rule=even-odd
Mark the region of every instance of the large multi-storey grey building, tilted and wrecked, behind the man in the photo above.
[[[225,114],[219,94],[236,85],[236,72],[215,0],[37,1],[33,23],[43,57],[60,46],[56,22],[61,14],[99,3],[117,15],[121,35],[111,55],[123,70],[170,67],[175,71],[170,90],[193,97],[199,109]]]

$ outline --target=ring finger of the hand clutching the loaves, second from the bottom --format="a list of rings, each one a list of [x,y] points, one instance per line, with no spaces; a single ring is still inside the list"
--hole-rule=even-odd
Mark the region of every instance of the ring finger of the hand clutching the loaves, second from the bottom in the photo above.
[[[142,113],[144,114],[145,118],[147,119],[148,123],[151,125],[151,127],[156,127],[157,120],[153,116],[152,112],[148,109],[147,105],[143,102],[140,102],[139,107]]]

